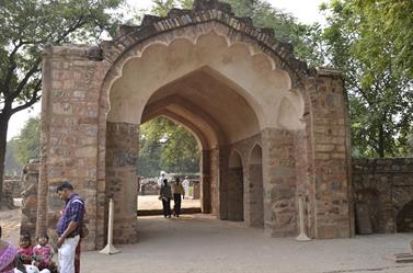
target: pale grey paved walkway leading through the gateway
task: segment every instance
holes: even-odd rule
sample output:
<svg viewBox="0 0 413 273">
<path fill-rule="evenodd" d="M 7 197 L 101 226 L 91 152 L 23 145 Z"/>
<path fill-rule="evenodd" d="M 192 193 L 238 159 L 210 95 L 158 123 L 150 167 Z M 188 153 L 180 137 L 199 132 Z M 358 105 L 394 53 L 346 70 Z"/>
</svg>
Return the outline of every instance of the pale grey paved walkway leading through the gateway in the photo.
<svg viewBox="0 0 413 273">
<path fill-rule="evenodd" d="M 206 215 L 141 217 L 139 242 L 122 246 L 121 254 L 82 254 L 82 272 L 142 273 L 413 273 L 395 264 L 394 253 L 408 252 L 413 234 L 297 242 L 266 237 L 242 223 Z"/>
</svg>

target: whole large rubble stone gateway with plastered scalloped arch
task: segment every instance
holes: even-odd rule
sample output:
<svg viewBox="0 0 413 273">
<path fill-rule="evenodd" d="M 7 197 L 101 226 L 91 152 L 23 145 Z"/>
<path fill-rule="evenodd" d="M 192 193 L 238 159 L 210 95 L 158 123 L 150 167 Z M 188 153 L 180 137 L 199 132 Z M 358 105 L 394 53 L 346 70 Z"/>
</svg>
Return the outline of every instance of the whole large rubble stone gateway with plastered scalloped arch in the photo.
<svg viewBox="0 0 413 273">
<path fill-rule="evenodd" d="M 55 228 L 69 180 L 85 198 L 85 249 L 105 243 L 108 197 L 115 241 L 137 241 L 138 127 L 162 115 L 202 146 L 203 213 L 295 236 L 305 196 L 310 237 L 352 236 L 343 81 L 291 48 L 216 0 L 147 15 L 99 47 L 47 46 L 37 232 Z"/>
</svg>

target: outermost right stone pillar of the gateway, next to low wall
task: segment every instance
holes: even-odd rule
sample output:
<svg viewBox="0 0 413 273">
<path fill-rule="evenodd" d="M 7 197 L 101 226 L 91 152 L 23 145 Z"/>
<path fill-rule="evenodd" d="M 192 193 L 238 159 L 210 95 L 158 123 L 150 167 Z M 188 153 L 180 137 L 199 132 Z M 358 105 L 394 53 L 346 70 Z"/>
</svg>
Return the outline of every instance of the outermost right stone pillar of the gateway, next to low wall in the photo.
<svg viewBox="0 0 413 273">
<path fill-rule="evenodd" d="M 352 235 L 349 127 L 341 75 L 321 70 L 312 102 L 317 238 Z M 351 208 L 352 207 L 352 208 Z"/>
</svg>

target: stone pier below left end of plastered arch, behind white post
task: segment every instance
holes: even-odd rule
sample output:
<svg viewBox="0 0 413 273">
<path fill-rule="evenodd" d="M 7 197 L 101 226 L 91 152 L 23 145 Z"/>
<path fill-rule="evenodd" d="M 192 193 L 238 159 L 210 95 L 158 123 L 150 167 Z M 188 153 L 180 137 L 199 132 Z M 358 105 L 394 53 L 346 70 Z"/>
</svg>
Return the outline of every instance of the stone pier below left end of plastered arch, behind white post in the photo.
<svg viewBox="0 0 413 273">
<path fill-rule="evenodd" d="M 138 126 L 107 123 L 106 189 L 115 204 L 114 242 L 137 241 L 137 157 Z"/>
</svg>

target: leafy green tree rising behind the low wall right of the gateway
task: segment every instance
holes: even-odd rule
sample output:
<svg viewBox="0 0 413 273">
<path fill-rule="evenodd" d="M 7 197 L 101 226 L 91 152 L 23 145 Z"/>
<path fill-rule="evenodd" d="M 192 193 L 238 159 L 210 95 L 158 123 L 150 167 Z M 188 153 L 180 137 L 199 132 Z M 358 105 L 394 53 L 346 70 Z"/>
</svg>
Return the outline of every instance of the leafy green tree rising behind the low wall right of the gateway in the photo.
<svg viewBox="0 0 413 273">
<path fill-rule="evenodd" d="M 317 39 L 326 52 L 325 65 L 343 72 L 353 155 L 403 156 L 413 122 L 413 54 L 403 49 L 412 48 L 412 2 L 333 0 L 322 10 L 330 12 L 329 25 Z M 389 20 L 405 24 L 401 31 L 410 32 L 408 39 L 399 37 Z"/>
</svg>

